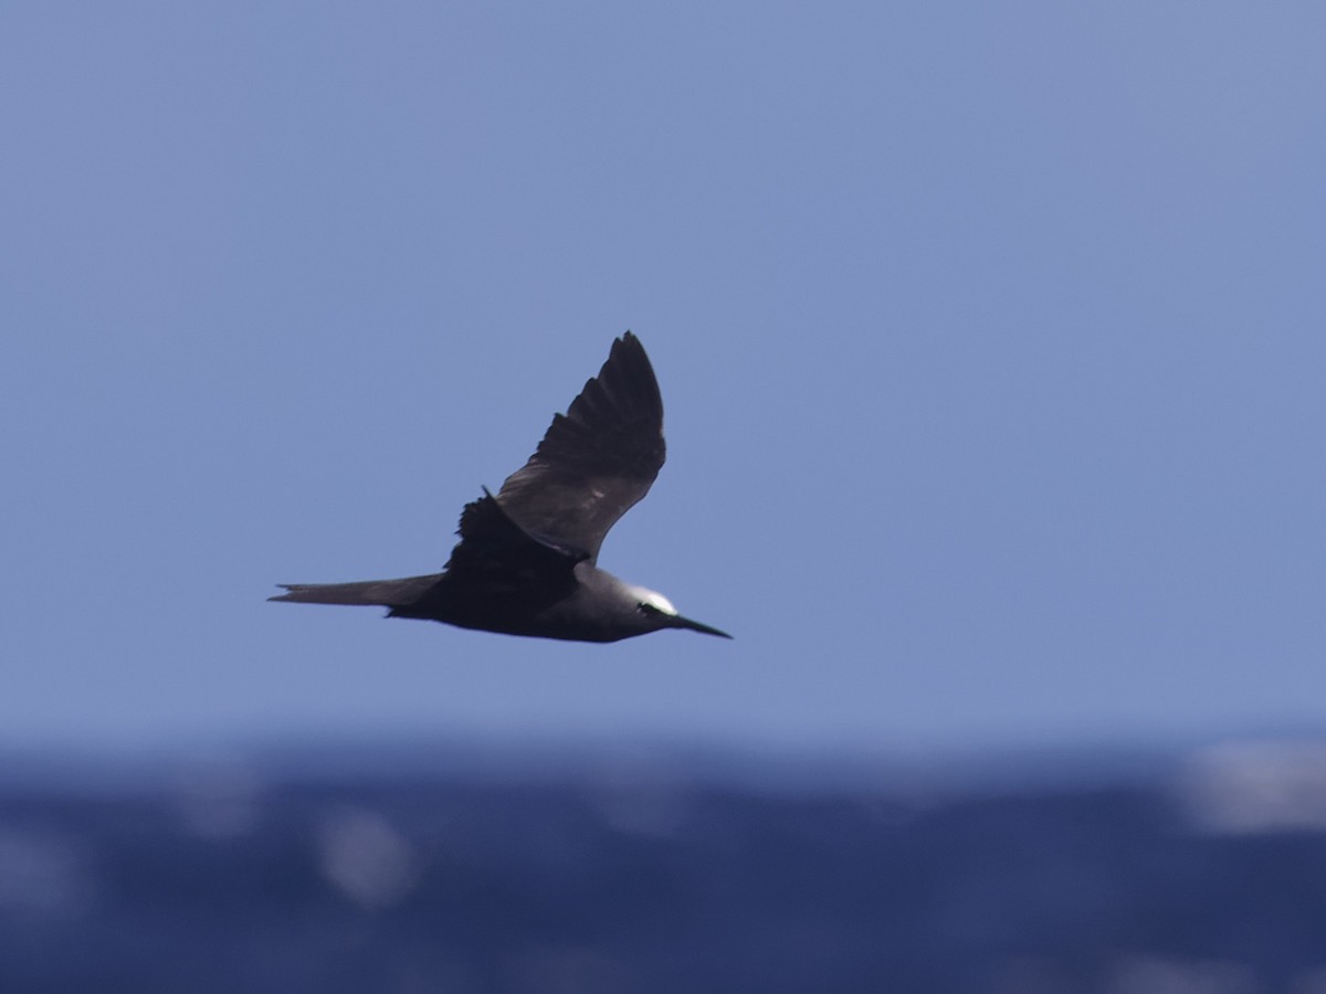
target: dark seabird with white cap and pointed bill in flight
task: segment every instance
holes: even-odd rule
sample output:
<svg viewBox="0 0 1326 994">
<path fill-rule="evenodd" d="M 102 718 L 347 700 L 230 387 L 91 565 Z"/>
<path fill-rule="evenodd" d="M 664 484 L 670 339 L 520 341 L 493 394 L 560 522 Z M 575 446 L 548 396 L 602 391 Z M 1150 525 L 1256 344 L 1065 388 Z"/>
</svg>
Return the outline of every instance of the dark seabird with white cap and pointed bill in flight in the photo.
<svg viewBox="0 0 1326 994">
<path fill-rule="evenodd" d="M 534 455 L 465 505 L 442 573 L 354 583 L 281 583 L 268 598 L 374 604 L 387 618 L 569 641 L 610 643 L 664 628 L 723 639 L 658 591 L 598 567 L 603 538 L 650 492 L 667 445 L 663 398 L 640 339 L 613 342 L 598 375 L 553 415 Z"/>
</svg>

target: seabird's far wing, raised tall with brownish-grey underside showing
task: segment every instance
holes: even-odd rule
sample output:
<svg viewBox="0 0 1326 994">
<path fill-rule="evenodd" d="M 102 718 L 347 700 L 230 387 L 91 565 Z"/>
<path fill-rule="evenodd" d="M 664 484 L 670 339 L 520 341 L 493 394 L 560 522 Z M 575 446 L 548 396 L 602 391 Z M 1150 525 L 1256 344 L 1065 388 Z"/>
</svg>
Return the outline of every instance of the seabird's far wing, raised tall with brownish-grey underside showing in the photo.
<svg viewBox="0 0 1326 994">
<path fill-rule="evenodd" d="M 603 535 L 663 467 L 663 399 L 640 341 L 627 331 L 538 449 L 497 492 L 529 534 L 593 562 Z"/>
</svg>

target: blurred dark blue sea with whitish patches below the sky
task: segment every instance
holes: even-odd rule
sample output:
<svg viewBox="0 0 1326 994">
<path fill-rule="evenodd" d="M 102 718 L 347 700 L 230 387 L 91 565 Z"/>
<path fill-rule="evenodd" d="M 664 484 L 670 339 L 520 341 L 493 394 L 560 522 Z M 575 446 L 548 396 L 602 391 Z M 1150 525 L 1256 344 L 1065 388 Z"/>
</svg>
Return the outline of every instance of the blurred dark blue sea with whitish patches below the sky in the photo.
<svg viewBox="0 0 1326 994">
<path fill-rule="evenodd" d="M 335 753 L 11 777 L 0 990 L 1326 991 L 1322 758 L 934 789 Z"/>
</svg>

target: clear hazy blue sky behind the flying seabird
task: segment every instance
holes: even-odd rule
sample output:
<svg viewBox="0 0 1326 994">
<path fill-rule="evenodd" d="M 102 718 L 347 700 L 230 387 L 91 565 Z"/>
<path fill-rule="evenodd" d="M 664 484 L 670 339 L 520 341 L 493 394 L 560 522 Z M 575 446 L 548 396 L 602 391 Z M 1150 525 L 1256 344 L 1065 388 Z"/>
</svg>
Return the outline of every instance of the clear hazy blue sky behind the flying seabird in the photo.
<svg viewBox="0 0 1326 994">
<path fill-rule="evenodd" d="M 1326 726 L 1317 3 L 0 8 L 0 742 Z M 602 565 L 431 573 L 633 329 Z"/>
</svg>

